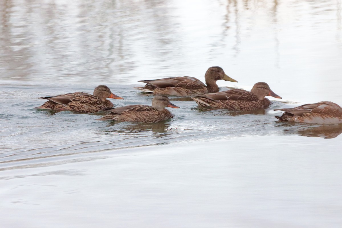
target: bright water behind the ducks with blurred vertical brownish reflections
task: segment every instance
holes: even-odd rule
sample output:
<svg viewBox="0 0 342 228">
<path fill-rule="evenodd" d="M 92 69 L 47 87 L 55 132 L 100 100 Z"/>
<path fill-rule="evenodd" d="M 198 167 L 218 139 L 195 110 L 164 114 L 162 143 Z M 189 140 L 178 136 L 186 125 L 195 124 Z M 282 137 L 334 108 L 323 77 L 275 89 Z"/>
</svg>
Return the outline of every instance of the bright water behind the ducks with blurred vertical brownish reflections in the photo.
<svg viewBox="0 0 342 228">
<path fill-rule="evenodd" d="M 244 88 L 266 81 L 290 100 L 341 101 L 331 92 L 341 70 L 340 1 L 19 3 L 0 3 L 6 80 L 203 80 L 219 65 Z"/>
</svg>

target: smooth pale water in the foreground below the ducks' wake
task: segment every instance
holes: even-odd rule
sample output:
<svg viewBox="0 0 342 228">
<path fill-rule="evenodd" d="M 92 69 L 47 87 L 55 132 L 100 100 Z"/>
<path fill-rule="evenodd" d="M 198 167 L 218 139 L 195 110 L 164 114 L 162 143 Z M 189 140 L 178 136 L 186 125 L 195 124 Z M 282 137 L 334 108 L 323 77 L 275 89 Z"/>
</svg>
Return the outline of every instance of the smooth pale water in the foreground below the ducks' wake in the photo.
<svg viewBox="0 0 342 228">
<path fill-rule="evenodd" d="M 2 215 L 21 218 L 2 216 L 2 225 L 337 228 L 342 157 L 323 142 L 244 137 L 2 171 Z"/>
</svg>

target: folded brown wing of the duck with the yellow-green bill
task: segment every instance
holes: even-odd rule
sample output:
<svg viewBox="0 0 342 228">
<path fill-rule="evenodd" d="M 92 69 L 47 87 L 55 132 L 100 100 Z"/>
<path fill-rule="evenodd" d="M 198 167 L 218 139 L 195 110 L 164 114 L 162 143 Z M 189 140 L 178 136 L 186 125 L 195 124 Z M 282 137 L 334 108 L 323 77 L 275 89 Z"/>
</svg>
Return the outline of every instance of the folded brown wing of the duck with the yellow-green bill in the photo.
<svg viewBox="0 0 342 228">
<path fill-rule="evenodd" d="M 162 78 L 156 80 L 143 80 L 139 82 L 144 82 L 148 85 L 152 85 L 157 88 L 167 88 L 167 87 L 178 87 L 186 89 L 198 89 L 205 87 L 205 84 L 194 77 L 172 77 L 172 78 Z"/>
</svg>

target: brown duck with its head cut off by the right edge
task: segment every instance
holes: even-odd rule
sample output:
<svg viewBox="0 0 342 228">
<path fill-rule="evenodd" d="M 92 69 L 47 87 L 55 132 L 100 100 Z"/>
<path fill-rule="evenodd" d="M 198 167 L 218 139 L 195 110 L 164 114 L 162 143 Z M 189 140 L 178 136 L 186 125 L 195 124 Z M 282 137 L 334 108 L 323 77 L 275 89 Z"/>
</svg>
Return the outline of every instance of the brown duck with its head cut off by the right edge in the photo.
<svg viewBox="0 0 342 228">
<path fill-rule="evenodd" d="M 330 101 L 321 101 L 294 108 L 280 108 L 275 110 L 284 111 L 281 116 L 275 116 L 275 118 L 281 121 L 317 124 L 342 123 L 341 106 Z"/>
</svg>

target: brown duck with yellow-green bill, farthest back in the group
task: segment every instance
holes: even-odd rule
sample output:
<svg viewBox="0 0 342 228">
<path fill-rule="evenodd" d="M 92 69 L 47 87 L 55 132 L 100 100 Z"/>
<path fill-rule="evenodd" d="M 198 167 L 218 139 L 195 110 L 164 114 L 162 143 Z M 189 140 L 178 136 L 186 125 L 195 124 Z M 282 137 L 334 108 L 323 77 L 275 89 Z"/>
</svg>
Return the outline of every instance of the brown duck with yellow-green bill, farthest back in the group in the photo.
<svg viewBox="0 0 342 228">
<path fill-rule="evenodd" d="M 225 80 L 237 82 L 235 79 L 228 77 L 221 67 L 210 67 L 205 74 L 206 84 L 194 77 L 172 77 L 156 80 L 142 80 L 144 87 L 135 87 L 144 92 L 174 96 L 196 96 L 206 93 L 219 92 L 217 80 Z"/>
</svg>

